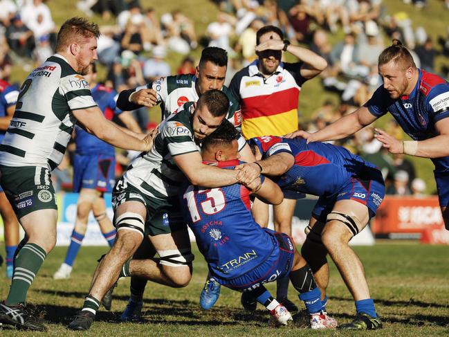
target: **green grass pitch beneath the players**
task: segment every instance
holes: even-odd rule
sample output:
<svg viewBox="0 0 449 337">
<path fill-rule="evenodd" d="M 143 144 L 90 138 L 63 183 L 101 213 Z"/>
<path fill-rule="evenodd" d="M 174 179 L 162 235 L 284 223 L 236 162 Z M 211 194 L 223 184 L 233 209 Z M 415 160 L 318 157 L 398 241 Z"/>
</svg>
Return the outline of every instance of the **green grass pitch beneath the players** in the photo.
<svg viewBox="0 0 449 337">
<path fill-rule="evenodd" d="M 0 248 L 3 251 L 3 248 Z M 95 259 L 105 250 L 85 247 L 80 251 L 70 280 L 53 280 L 52 275 L 64 258 L 66 248 L 56 248 L 39 272 L 28 293 L 28 302 L 35 304 L 47 322 L 50 336 L 80 336 L 66 330 L 70 318 L 82 306 L 89 288 Z M 370 247 L 356 247 L 376 301 L 376 309 L 384 322 L 384 329 L 367 332 L 311 331 L 300 313 L 295 322 L 279 329 L 267 326 L 268 312 L 261 306 L 255 313 L 244 311 L 240 295 L 222 289 L 217 305 L 211 311 L 201 311 L 198 300 L 206 265 L 197 251 L 194 253 L 194 276 L 183 289 L 171 289 L 149 284 L 145 293 L 145 324 L 118 322 L 118 315 L 126 305 L 129 280 L 119 283 L 115 291 L 113 311 L 100 311 L 98 321 L 82 336 L 447 336 L 449 334 L 449 285 L 447 246 L 421 246 L 414 243 L 381 243 Z M 275 293 L 274 284 L 268 289 Z M 4 270 L 0 275 L 0 298 L 8 293 Z M 331 265 L 328 311 L 339 322 L 347 322 L 354 315 L 354 301 L 343 284 L 336 268 Z M 290 298 L 300 307 L 295 290 Z M 40 333 L 18 332 L 4 328 L 1 336 L 39 336 Z"/>
</svg>

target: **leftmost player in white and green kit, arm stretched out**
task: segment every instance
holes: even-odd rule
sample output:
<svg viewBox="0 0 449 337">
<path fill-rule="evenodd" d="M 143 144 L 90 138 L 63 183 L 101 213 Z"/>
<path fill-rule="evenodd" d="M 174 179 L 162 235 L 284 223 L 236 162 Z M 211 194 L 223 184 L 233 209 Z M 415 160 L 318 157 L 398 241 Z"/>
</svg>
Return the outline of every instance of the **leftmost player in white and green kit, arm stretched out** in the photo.
<svg viewBox="0 0 449 337">
<path fill-rule="evenodd" d="M 111 145 L 147 151 L 152 135 L 135 134 L 106 118 L 82 77 L 97 59 L 98 26 L 68 19 L 57 35 L 57 54 L 33 70 L 21 86 L 14 116 L 0 145 L 0 183 L 26 237 L 15 257 L 0 323 L 45 331 L 26 309 L 26 293 L 56 243 L 57 206 L 50 172 L 64 156 L 73 125 Z"/>
</svg>

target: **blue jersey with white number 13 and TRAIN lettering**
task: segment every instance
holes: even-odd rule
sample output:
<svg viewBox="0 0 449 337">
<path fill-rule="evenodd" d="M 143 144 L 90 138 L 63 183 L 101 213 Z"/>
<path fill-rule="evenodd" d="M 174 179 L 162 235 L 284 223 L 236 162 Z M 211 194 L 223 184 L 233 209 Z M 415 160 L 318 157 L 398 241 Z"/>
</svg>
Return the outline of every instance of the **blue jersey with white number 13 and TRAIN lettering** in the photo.
<svg viewBox="0 0 449 337">
<path fill-rule="evenodd" d="M 233 169 L 239 161 L 219 162 Z M 261 176 L 261 179 L 264 179 Z M 239 183 L 223 188 L 189 185 L 181 201 L 185 221 L 212 275 L 230 280 L 262 264 L 277 248 L 274 235 L 254 221 L 250 210 L 250 191 Z"/>
</svg>

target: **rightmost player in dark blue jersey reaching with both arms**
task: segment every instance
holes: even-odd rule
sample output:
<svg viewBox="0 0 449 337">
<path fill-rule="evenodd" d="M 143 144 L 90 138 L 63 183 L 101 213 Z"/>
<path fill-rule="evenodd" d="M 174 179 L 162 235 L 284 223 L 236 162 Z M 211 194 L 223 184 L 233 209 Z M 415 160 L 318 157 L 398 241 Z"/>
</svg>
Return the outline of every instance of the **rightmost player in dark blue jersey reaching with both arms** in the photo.
<svg viewBox="0 0 449 337">
<path fill-rule="evenodd" d="M 397 39 L 379 55 L 378 72 L 383 85 L 363 107 L 315 133 L 296 131 L 291 136 L 308 142 L 345 138 L 390 111 L 412 140 L 397 140 L 380 129 L 375 137 L 392 154 L 432 159 L 439 205 L 449 230 L 449 83 L 417 69 Z"/>
</svg>

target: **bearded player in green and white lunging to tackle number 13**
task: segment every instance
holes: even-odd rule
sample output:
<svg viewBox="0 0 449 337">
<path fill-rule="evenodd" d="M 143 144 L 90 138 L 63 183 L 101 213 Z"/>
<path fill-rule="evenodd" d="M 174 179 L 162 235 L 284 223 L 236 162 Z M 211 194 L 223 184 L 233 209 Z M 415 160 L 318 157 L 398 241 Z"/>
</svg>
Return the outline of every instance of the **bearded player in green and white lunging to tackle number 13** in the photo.
<svg viewBox="0 0 449 337">
<path fill-rule="evenodd" d="M 219 127 L 228 109 L 229 100 L 222 91 L 203 93 L 198 102 L 187 102 L 165 119 L 158 127 L 154 147 L 131 161 L 113 192 L 116 242 L 98 265 L 82 311 L 69 329 L 91 327 L 100 300 L 119 276 L 143 277 L 173 287 L 190 282 L 194 256 L 178 201 L 183 181 L 187 178 L 194 185 L 210 188 L 236 181 L 248 188 L 260 184 L 258 177 L 237 179 L 238 171 L 202 163 L 199 144 Z M 159 258 L 129 260 L 145 236 Z"/>
</svg>

